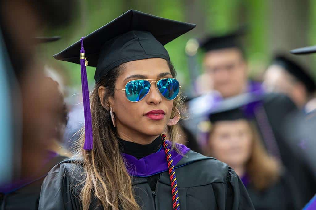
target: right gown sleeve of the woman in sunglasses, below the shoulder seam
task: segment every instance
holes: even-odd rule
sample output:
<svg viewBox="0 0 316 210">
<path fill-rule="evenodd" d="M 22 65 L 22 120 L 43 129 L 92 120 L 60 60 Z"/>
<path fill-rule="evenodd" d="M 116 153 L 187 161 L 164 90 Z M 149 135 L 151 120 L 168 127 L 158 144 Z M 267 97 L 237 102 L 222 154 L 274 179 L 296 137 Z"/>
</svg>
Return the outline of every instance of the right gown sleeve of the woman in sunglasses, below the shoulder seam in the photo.
<svg viewBox="0 0 316 210">
<path fill-rule="evenodd" d="M 219 210 L 254 210 L 244 184 L 231 167 L 228 167 L 226 183 L 212 185 Z"/>
</svg>

